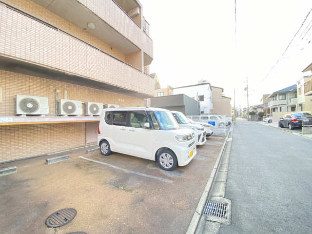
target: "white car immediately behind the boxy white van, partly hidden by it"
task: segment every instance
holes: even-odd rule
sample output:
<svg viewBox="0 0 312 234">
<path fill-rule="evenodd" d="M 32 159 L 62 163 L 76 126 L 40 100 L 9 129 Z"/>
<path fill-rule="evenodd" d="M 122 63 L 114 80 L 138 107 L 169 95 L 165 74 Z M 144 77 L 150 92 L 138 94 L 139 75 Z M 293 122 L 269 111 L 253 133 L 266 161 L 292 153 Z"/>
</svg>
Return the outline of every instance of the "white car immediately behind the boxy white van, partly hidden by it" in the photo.
<svg viewBox="0 0 312 234">
<path fill-rule="evenodd" d="M 171 111 L 173 116 L 176 118 L 177 123 L 182 128 L 193 129 L 195 133 L 196 145 L 203 145 L 206 142 L 206 131 L 200 124 L 191 123 L 191 121 L 179 111 Z"/>
</svg>

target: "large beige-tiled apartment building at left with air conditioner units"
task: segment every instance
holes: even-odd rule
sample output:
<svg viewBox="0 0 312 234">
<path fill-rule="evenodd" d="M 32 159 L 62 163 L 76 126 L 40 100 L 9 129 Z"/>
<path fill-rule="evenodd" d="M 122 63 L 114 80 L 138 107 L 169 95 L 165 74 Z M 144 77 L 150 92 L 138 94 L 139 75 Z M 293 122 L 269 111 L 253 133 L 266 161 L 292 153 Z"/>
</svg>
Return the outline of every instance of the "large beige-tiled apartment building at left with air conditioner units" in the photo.
<svg viewBox="0 0 312 234">
<path fill-rule="evenodd" d="M 154 96 L 152 60 L 137 0 L 1 0 L 0 163 L 94 144 L 103 105 Z"/>
</svg>

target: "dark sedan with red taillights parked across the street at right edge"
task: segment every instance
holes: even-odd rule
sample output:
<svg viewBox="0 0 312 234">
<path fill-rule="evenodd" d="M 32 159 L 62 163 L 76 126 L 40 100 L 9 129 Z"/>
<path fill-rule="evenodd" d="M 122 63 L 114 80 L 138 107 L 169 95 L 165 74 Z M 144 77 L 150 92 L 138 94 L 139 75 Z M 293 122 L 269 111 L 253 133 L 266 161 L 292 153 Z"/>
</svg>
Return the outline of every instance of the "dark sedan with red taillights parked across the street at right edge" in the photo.
<svg viewBox="0 0 312 234">
<path fill-rule="evenodd" d="M 290 130 L 300 128 L 302 127 L 302 121 L 309 121 L 307 117 L 312 117 L 312 115 L 307 112 L 286 114 L 279 119 L 278 126 L 281 128 L 288 127 Z"/>
</svg>

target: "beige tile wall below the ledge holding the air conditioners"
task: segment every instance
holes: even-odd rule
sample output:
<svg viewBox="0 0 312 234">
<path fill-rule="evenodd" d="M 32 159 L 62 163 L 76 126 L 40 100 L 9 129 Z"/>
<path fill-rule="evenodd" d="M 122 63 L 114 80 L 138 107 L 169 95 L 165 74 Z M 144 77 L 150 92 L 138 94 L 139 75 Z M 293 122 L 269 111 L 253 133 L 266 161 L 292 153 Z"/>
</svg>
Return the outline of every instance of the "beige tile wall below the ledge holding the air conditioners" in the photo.
<svg viewBox="0 0 312 234">
<path fill-rule="evenodd" d="M 0 126 L 0 162 L 83 145 L 85 123 Z"/>
</svg>

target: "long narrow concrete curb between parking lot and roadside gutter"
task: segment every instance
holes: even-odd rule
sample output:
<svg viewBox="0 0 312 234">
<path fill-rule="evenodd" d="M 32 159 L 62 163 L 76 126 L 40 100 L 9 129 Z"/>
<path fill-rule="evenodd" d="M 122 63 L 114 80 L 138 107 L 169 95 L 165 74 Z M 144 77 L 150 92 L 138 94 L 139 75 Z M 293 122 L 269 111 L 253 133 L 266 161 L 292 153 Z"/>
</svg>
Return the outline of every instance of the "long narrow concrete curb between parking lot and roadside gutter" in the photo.
<svg viewBox="0 0 312 234">
<path fill-rule="evenodd" d="M 233 127 L 234 128 L 234 127 Z M 231 130 L 231 129 L 230 129 Z M 215 176 L 216 176 L 216 172 L 217 172 L 217 169 L 219 167 L 219 164 L 221 162 L 221 158 L 222 158 L 222 155 L 223 155 L 223 152 L 224 152 L 224 149 L 225 149 L 225 146 L 228 142 L 228 138 L 229 138 L 229 135 L 230 135 L 230 131 L 228 132 L 228 135 L 227 137 L 225 138 L 225 141 L 222 145 L 222 148 L 220 150 L 220 153 L 218 155 L 218 158 L 216 159 L 215 161 L 215 166 L 214 166 L 214 169 L 213 171 L 211 172 L 210 176 L 209 176 L 209 179 L 207 181 L 207 184 L 206 184 L 206 187 L 204 189 L 204 192 L 203 194 L 201 195 L 200 199 L 199 199 L 199 202 L 197 204 L 197 207 L 196 207 L 196 210 L 195 210 L 195 213 L 193 215 L 193 218 L 191 220 L 191 223 L 189 225 L 189 228 L 187 229 L 187 232 L 186 234 L 195 234 L 195 231 L 196 231 L 196 228 L 197 228 L 197 225 L 198 225 L 198 222 L 199 222 L 199 219 L 201 217 L 201 213 L 205 207 L 205 204 L 206 204 L 206 201 L 207 201 L 207 198 L 208 198 L 208 195 L 209 195 L 209 192 L 211 190 L 211 187 L 213 185 L 213 182 L 214 182 L 214 179 L 215 179 Z M 233 130 L 232 130 L 233 131 Z"/>
</svg>

